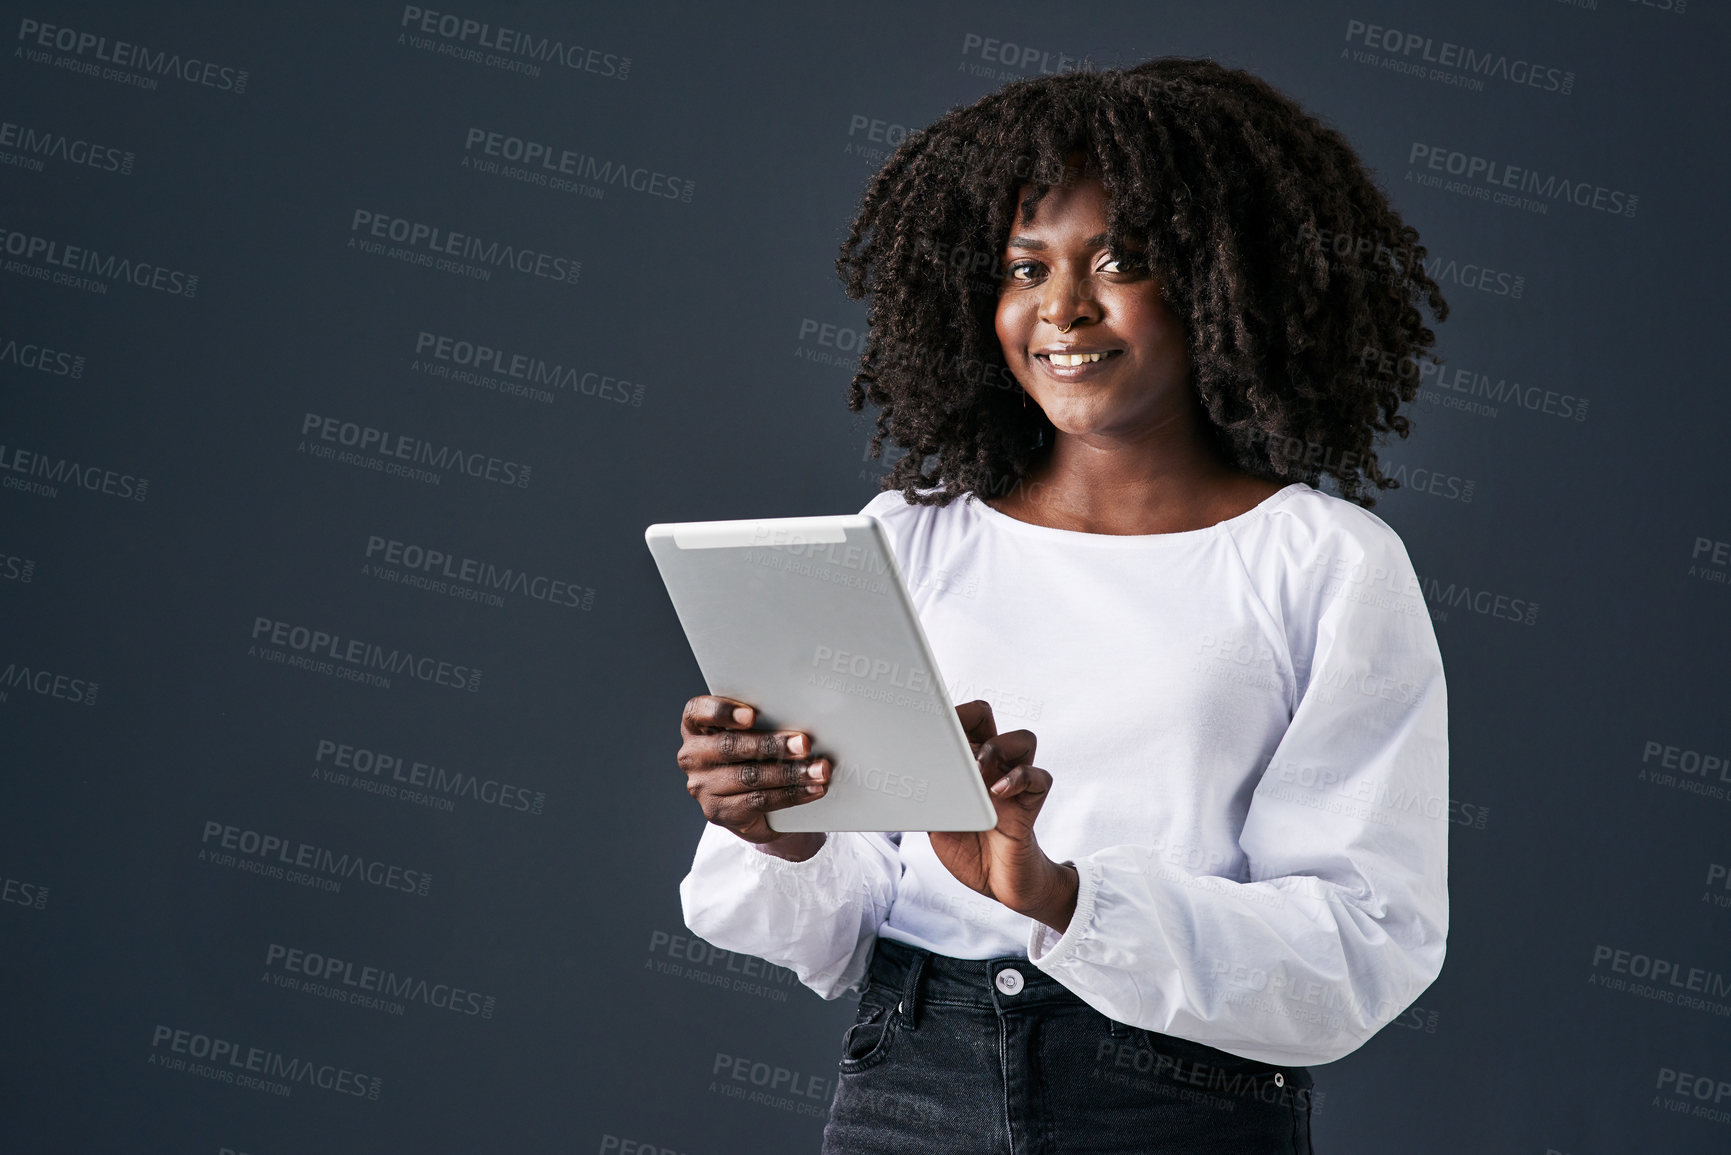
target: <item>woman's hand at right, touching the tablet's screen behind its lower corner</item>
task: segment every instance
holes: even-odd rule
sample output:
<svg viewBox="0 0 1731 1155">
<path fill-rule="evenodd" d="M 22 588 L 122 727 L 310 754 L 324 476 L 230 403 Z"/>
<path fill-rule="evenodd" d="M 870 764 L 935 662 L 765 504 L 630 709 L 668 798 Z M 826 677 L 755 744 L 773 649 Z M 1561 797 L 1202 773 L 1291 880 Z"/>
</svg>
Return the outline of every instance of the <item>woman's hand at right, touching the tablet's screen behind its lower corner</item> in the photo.
<svg viewBox="0 0 1731 1155">
<path fill-rule="evenodd" d="M 1033 819 L 1052 788 L 1052 776 L 1033 765 L 1033 731 L 999 734 L 983 700 L 956 707 L 956 715 L 980 760 L 997 826 L 931 831 L 931 850 L 964 887 L 1063 933 L 1077 907 L 1077 869 L 1052 862 L 1033 838 Z"/>
</svg>

